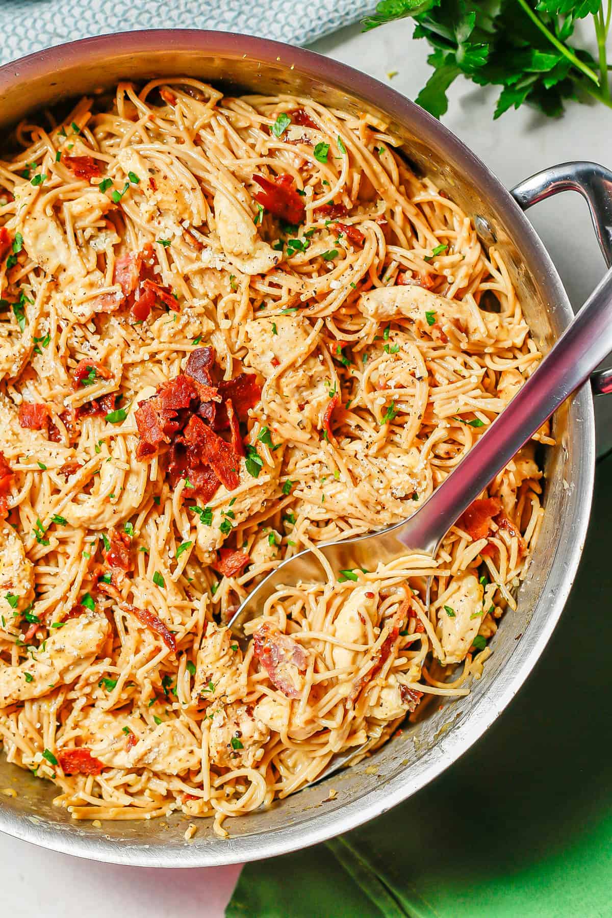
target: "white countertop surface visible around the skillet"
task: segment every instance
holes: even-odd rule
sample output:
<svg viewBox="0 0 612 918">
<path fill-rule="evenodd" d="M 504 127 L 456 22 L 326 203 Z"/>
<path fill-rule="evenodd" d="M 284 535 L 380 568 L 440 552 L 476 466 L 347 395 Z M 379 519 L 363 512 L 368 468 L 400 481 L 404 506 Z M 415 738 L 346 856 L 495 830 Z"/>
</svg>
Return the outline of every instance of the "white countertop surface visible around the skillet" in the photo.
<svg viewBox="0 0 612 918">
<path fill-rule="evenodd" d="M 410 97 L 425 83 L 428 46 L 411 39 L 407 22 L 362 34 L 346 28 L 313 46 Z M 551 120 L 529 108 L 511 111 L 495 123 L 495 90 L 458 83 L 443 118 L 508 187 L 557 162 L 594 160 L 612 166 L 612 112 L 603 106 L 570 105 Z M 574 306 L 604 273 L 604 261 L 586 206 L 564 194 L 529 211 L 529 218 L 559 268 Z M 597 403 L 600 451 L 612 447 L 612 397 Z M 11 918 L 217 918 L 233 889 L 239 867 L 156 870 L 96 864 L 43 851 L 0 835 L 0 901 Z"/>
</svg>

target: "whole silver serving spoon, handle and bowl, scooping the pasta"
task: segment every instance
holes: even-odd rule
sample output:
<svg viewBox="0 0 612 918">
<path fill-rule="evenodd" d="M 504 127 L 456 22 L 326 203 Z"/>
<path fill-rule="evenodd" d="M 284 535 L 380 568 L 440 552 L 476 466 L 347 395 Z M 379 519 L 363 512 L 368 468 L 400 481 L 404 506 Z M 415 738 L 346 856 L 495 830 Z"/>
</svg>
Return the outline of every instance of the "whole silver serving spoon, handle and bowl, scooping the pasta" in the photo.
<svg viewBox="0 0 612 918">
<path fill-rule="evenodd" d="M 540 430 L 544 421 L 584 383 L 610 351 L 612 269 L 595 287 L 572 324 L 507 408 L 416 513 L 406 521 L 379 532 L 345 542 L 317 545 L 334 575 L 338 576 L 340 571 L 353 567 L 373 571 L 379 562 L 386 564 L 409 551 L 435 554 L 464 510 L 506 467 L 521 446 Z M 244 622 L 261 613 L 265 600 L 277 587 L 317 581 L 323 576 L 322 565 L 310 549 L 287 558 L 243 600 L 229 621 L 229 627 L 243 636 Z M 353 749 L 336 756 L 317 781 L 327 778 L 358 752 L 359 749 Z"/>
</svg>

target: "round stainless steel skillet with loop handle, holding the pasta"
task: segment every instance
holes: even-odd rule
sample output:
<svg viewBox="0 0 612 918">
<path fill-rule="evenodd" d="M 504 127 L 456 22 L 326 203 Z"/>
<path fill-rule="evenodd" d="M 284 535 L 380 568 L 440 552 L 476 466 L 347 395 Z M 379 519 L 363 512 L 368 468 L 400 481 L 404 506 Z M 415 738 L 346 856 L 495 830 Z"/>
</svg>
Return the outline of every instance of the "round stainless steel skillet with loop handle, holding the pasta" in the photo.
<svg viewBox="0 0 612 918">
<path fill-rule="evenodd" d="M 7 129 L 39 106 L 94 92 L 118 80 L 176 75 L 209 80 L 236 93 L 291 92 L 328 106 L 368 110 L 400 138 L 420 174 L 440 185 L 474 220 L 486 245 L 509 266 L 526 318 L 542 351 L 550 350 L 572 319 L 551 259 L 522 208 L 565 188 L 589 201 L 606 254 L 612 239 L 612 175 L 593 163 L 547 170 L 515 189 L 515 196 L 451 132 L 388 86 L 305 50 L 262 39 L 197 30 L 142 31 L 73 42 L 0 68 L 0 124 Z M 517 203 L 518 202 L 518 203 Z M 568 253 L 572 238 L 568 233 Z M 599 376 L 597 391 L 609 388 Z M 550 638 L 571 588 L 588 524 L 595 467 L 591 394 L 583 387 L 554 418 L 558 446 L 546 465 L 546 514 L 517 614 L 493 639 L 486 677 L 465 699 L 435 711 L 386 744 L 365 766 L 281 800 L 269 811 L 233 820 L 232 838 L 219 839 L 202 823 L 191 844 L 185 820 L 74 823 L 52 805 L 55 789 L 0 756 L 0 829 L 78 856 L 158 867 L 213 866 L 281 854 L 345 832 L 384 812 L 440 774 L 484 733 L 528 677 Z M 519 751 L 517 752 L 519 754 Z M 375 770 L 373 770 L 375 769 Z M 417 831 L 417 828 L 416 828 Z"/>
</svg>

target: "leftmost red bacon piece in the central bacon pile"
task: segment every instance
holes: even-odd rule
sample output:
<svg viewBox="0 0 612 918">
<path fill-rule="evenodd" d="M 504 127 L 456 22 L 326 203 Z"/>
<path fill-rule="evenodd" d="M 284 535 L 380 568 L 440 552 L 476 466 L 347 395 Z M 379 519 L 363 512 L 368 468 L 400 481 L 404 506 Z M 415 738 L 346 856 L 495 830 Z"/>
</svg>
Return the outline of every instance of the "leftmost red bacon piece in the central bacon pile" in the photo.
<svg viewBox="0 0 612 918">
<path fill-rule="evenodd" d="M 188 409 L 197 398 L 194 383 L 183 373 L 160 386 L 156 394 L 139 403 L 134 412 L 140 442 L 137 459 L 148 459 L 161 443 L 169 443 L 181 429 L 184 420 L 179 412 Z"/>
</svg>

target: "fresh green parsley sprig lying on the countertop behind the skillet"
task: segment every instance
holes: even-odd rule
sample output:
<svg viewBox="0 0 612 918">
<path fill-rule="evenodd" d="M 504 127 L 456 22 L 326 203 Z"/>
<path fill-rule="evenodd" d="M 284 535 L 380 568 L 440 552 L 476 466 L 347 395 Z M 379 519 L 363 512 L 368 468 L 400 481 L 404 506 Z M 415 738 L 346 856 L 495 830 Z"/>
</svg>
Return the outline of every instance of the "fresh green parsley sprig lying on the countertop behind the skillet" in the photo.
<svg viewBox="0 0 612 918">
<path fill-rule="evenodd" d="M 523 104 L 557 117 L 565 102 L 584 94 L 612 108 L 606 59 L 612 0 L 380 0 L 363 28 L 404 17 L 415 19 L 413 37 L 433 49 L 434 72 L 417 103 L 437 118 L 460 75 L 502 87 L 494 118 Z M 597 60 L 575 43 L 576 23 L 587 17 Z"/>
</svg>

